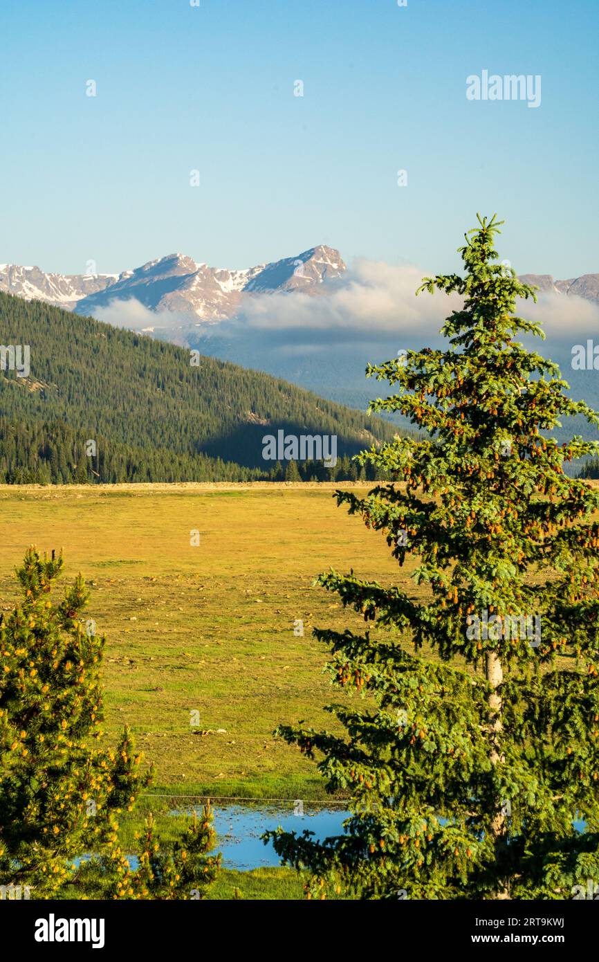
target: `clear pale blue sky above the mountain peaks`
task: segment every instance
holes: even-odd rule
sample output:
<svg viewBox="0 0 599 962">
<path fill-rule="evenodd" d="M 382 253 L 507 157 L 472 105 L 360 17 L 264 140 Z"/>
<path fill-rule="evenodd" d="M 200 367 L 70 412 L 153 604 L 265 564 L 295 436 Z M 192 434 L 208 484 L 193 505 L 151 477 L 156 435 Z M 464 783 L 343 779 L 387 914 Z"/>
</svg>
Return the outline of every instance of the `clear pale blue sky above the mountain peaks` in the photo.
<svg viewBox="0 0 599 962">
<path fill-rule="evenodd" d="M 0 261 L 114 272 L 181 251 L 245 267 L 328 243 L 440 271 L 496 210 L 519 272 L 597 271 L 598 13 L 5 0 Z M 468 101 L 483 69 L 539 74 L 540 107 Z"/>
</svg>

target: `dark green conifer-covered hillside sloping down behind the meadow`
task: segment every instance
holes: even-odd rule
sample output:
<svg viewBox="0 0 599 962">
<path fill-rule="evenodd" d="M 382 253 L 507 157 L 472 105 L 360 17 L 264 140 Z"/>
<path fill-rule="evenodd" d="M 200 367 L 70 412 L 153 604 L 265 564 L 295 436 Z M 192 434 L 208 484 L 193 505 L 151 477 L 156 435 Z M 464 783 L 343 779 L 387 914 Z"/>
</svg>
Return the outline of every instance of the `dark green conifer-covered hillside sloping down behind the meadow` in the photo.
<svg viewBox="0 0 599 962">
<path fill-rule="evenodd" d="M 31 368 L 0 370 L 0 481 L 280 477 L 285 465 L 262 460 L 262 437 L 279 429 L 337 435 L 337 470 L 298 467 L 340 477 L 349 455 L 396 430 L 258 371 L 192 365 L 185 348 L 1 292 L 0 343 L 29 345 Z"/>
</svg>

